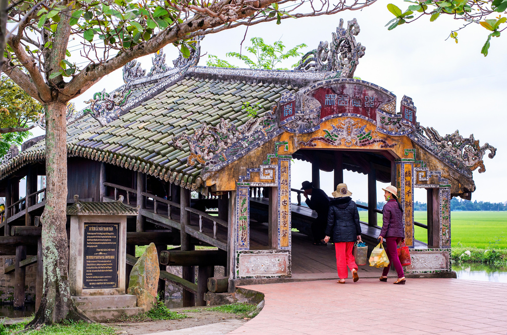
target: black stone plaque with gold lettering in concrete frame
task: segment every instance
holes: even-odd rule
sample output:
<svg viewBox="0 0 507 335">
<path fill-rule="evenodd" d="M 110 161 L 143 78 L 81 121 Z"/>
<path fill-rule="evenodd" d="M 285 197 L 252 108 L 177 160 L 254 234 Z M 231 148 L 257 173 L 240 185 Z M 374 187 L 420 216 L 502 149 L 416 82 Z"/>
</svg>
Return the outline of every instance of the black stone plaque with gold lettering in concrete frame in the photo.
<svg viewBox="0 0 507 335">
<path fill-rule="evenodd" d="M 119 227 L 119 223 L 85 222 L 83 288 L 118 287 Z"/>
</svg>

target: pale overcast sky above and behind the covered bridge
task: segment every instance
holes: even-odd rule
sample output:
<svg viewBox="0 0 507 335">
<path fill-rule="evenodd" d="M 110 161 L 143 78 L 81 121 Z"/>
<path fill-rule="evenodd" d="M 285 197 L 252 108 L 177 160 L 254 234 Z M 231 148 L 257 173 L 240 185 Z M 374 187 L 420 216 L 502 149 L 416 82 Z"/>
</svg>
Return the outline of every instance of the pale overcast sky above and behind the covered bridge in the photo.
<svg viewBox="0 0 507 335">
<path fill-rule="evenodd" d="M 507 146 L 503 142 L 502 122 L 506 120 L 504 95 L 507 65 L 504 57 L 507 54 L 507 37 L 493 37 L 489 55 L 484 57 L 480 51 L 487 30 L 481 26 L 468 27 L 458 33 L 458 44 L 454 40 L 446 41 L 451 29 L 461 25 L 450 17 L 441 17 L 432 23 L 428 17 L 421 18 L 388 31 L 384 25 L 393 18 L 387 11 L 388 3 L 378 2 L 363 11 L 342 12 L 334 16 L 287 19 L 280 25 L 266 23 L 252 26 L 248 28 L 243 46 L 248 45 L 251 37 L 259 36 L 267 43 L 281 39 L 288 48 L 305 43 L 308 47 L 303 51 L 307 52 L 315 49 L 321 40 L 331 41 L 331 33 L 336 31 L 340 18 L 344 19 L 344 26 L 348 20 L 356 18 L 361 28 L 356 40 L 366 47 L 366 54 L 359 60 L 355 76 L 393 92 L 397 97 L 397 110 L 403 95 L 411 97 L 417 107 L 417 121 L 421 125 L 431 126 L 441 135 L 452 134 L 456 129 L 466 137 L 473 133 L 481 145 L 488 142 L 496 147 L 495 158 L 484 158 L 487 171 L 483 174 L 477 170 L 474 172 L 477 190 L 472 198 L 478 201 L 506 201 L 507 177 L 502 166 L 507 160 Z M 401 1 L 393 3 L 402 9 L 409 5 Z M 239 27 L 208 35 L 201 42 L 201 54 L 208 53 L 225 59 L 227 52 L 240 52 L 244 34 L 245 27 Z M 177 57 L 176 48 L 170 45 L 164 52 L 167 54 L 167 65 L 172 66 L 171 61 Z M 204 56 L 199 65 L 206 65 L 206 60 L 207 56 Z M 227 60 L 244 67 L 238 60 Z M 148 72 L 152 65 L 151 56 L 140 61 Z M 296 62 L 296 59 L 291 59 L 280 67 L 291 67 Z M 81 109 L 85 106 L 83 101 L 90 99 L 93 93 L 104 88 L 111 92 L 112 88 L 122 83 L 122 71 L 119 69 L 104 77 L 74 102 Z M 34 135 L 39 134 L 34 132 Z M 300 188 L 301 182 L 311 175 L 309 164 L 297 161 L 292 169 L 292 186 Z M 354 199 L 367 200 L 365 175 L 345 172 L 344 179 Z M 331 194 L 332 173 L 321 173 L 321 185 L 328 185 L 323 189 Z M 425 191 L 416 190 L 415 200 L 425 202 Z"/>
</svg>

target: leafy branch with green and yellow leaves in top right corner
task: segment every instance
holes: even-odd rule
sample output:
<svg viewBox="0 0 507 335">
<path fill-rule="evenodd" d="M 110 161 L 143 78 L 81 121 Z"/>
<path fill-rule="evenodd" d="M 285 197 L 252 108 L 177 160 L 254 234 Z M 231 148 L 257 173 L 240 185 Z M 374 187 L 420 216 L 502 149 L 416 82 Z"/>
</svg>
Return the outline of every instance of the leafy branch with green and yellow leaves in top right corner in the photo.
<svg viewBox="0 0 507 335">
<path fill-rule="evenodd" d="M 505 12 L 507 0 L 405 0 L 405 2 L 413 4 L 405 11 L 402 11 L 393 4 L 387 5 L 389 12 L 395 16 L 394 19 L 386 24 L 386 26 L 389 26 L 388 30 L 417 20 L 423 15 L 429 15 L 430 22 L 437 20 L 442 14 L 452 15 L 455 19 L 464 20 L 464 26 L 470 23 L 479 23 L 490 31 L 486 43 L 481 49 L 481 53 L 485 57 L 488 55 L 491 37 L 500 37 L 500 32 L 505 29 L 504 27 L 500 27 L 500 25 L 507 21 L 507 18 L 501 17 L 501 15 L 491 18 L 492 15 Z M 408 21 L 410 19 L 413 20 Z M 456 43 L 458 43 L 457 30 L 452 31 L 449 35 Z"/>
</svg>

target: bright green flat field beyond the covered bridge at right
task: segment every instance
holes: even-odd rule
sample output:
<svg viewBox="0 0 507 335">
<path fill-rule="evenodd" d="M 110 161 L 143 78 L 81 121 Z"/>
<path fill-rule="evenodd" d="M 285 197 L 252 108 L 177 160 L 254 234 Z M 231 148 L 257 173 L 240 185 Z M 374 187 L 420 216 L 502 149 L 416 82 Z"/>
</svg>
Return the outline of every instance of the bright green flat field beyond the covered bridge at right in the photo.
<svg viewBox="0 0 507 335">
<path fill-rule="evenodd" d="M 361 221 L 368 221 L 366 211 L 359 212 L 359 217 Z M 382 226 L 382 215 L 378 214 L 377 218 Z M 426 224 L 426 212 L 415 211 L 414 220 Z M 416 226 L 415 238 L 426 243 L 426 229 Z M 507 212 L 451 212 L 451 246 L 507 248 Z"/>
</svg>

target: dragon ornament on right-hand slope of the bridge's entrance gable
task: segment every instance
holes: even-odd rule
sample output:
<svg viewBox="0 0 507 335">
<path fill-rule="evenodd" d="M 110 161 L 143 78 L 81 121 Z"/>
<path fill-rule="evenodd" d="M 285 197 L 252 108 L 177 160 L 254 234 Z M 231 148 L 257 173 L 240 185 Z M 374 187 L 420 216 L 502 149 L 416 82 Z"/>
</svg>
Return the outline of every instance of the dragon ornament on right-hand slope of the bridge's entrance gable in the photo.
<svg viewBox="0 0 507 335">
<path fill-rule="evenodd" d="M 470 171 L 479 168 L 479 173 L 486 171 L 483 157 L 486 150 L 489 150 L 489 158 L 493 158 L 496 154 L 496 148 L 488 143 L 481 146 L 479 140 L 474 138 L 474 134 L 468 138 L 459 135 L 459 131 L 455 131 L 451 135 L 442 137 L 434 128 L 421 127 L 431 142 L 437 144 L 445 152 L 449 153 L 454 159 L 463 163 Z"/>
</svg>

